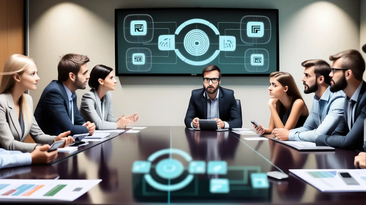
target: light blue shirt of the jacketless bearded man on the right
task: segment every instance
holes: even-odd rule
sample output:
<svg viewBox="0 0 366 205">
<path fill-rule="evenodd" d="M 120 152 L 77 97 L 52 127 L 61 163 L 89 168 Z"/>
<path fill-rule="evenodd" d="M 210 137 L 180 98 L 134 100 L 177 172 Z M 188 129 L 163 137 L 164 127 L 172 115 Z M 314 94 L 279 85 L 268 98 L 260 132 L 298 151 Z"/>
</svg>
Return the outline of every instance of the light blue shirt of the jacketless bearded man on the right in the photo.
<svg viewBox="0 0 366 205">
<path fill-rule="evenodd" d="M 330 92 L 330 86 L 321 98 L 314 95 L 311 111 L 302 127 L 290 130 L 288 140 L 315 142 L 319 135 L 332 135 L 333 131 L 342 133 L 346 128 L 344 101 L 346 94 L 341 90 Z"/>
</svg>

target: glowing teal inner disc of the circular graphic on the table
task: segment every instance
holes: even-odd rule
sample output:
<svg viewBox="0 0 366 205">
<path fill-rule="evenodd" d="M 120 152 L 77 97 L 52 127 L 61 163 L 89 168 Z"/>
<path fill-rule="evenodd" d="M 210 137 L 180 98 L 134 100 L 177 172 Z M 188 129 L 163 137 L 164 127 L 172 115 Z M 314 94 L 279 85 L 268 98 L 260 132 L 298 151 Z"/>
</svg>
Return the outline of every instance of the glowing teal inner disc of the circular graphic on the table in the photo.
<svg viewBox="0 0 366 205">
<path fill-rule="evenodd" d="M 157 163 L 156 174 L 164 179 L 175 179 L 184 171 L 183 164 L 176 159 L 164 159 Z"/>
</svg>

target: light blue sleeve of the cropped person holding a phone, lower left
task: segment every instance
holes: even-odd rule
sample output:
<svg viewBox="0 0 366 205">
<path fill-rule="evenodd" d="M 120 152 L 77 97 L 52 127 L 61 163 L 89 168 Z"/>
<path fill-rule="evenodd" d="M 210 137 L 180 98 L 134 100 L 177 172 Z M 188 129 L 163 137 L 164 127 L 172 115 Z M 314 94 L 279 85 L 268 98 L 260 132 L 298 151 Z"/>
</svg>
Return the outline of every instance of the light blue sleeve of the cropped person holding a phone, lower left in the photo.
<svg viewBox="0 0 366 205">
<path fill-rule="evenodd" d="M 32 157 L 28 152 L 22 153 L 20 151 L 9 151 L 0 148 L 0 169 L 30 165 L 31 163 Z"/>
</svg>

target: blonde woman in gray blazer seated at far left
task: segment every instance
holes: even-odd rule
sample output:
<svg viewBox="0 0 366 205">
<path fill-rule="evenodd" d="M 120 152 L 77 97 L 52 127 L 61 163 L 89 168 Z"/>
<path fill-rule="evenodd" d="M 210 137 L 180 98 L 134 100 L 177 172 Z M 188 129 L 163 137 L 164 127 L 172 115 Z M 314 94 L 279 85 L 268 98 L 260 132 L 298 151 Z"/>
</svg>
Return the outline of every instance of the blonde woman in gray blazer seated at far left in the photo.
<svg viewBox="0 0 366 205">
<path fill-rule="evenodd" d="M 43 133 L 33 117 L 32 97 L 26 90 L 36 90 L 38 80 L 37 67 L 30 57 L 11 55 L 0 73 L 0 148 L 32 152 L 34 149 L 55 141 L 64 140 L 61 147 L 73 143 L 70 131 L 56 136 Z M 36 143 L 24 142 L 28 134 Z"/>
</svg>

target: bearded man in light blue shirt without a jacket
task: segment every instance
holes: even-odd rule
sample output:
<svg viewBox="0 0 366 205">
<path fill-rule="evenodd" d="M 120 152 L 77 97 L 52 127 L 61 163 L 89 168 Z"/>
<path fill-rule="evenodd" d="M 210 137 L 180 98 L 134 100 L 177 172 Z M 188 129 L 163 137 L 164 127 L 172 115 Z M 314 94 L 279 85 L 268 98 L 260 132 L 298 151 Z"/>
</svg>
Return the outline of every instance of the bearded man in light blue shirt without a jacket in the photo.
<svg viewBox="0 0 366 205">
<path fill-rule="evenodd" d="M 304 125 L 287 130 L 276 128 L 273 134 L 280 140 L 315 142 L 319 135 L 342 134 L 346 122 L 343 118 L 345 96 L 343 91 L 330 92 L 330 65 L 324 60 L 306 60 L 301 63 L 305 67 L 302 81 L 304 93 L 314 93 L 310 115 Z"/>
</svg>

